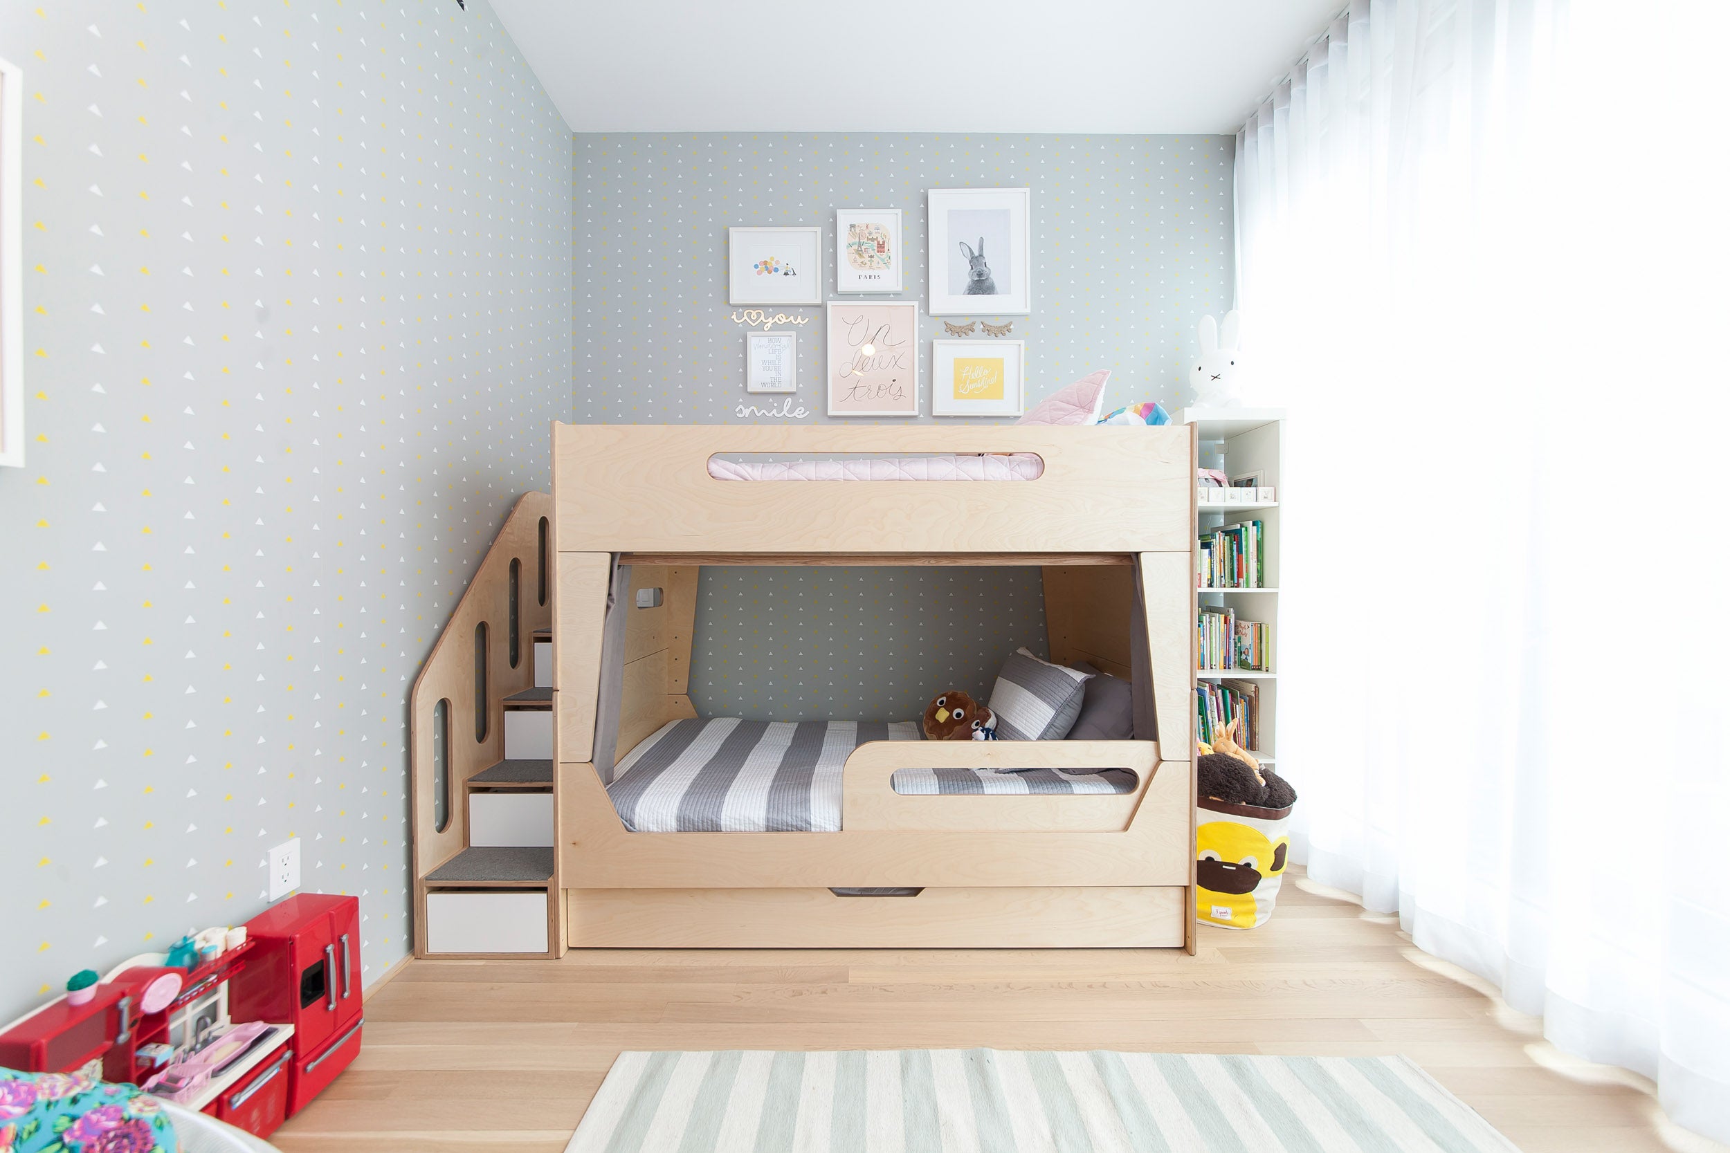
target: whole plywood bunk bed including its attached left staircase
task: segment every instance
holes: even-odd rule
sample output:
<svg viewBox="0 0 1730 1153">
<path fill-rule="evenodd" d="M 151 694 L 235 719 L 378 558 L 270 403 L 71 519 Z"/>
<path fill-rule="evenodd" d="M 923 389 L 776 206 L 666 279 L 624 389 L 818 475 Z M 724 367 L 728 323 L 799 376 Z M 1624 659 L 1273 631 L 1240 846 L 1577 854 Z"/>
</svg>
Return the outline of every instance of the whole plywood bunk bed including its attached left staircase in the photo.
<svg viewBox="0 0 1730 1153">
<path fill-rule="evenodd" d="M 716 479 L 723 453 L 1031 453 L 1043 465 L 1036 477 L 1026 460 L 972 470 L 1014 481 L 782 482 Z M 1194 951 L 1194 494 L 1189 425 L 554 425 L 554 494 L 517 501 L 412 691 L 415 954 Z M 825 747 L 827 769 L 799 766 L 813 781 L 829 773 L 825 804 L 839 811 L 822 828 L 839 831 L 633 831 L 609 783 L 644 780 L 631 757 L 697 723 L 687 690 L 702 565 L 1036 565 L 1050 659 L 1130 679 L 1137 740 L 863 740 L 855 728 Z M 972 780 L 967 769 L 990 768 L 1133 785 L 894 788 L 900 769 Z"/>
</svg>

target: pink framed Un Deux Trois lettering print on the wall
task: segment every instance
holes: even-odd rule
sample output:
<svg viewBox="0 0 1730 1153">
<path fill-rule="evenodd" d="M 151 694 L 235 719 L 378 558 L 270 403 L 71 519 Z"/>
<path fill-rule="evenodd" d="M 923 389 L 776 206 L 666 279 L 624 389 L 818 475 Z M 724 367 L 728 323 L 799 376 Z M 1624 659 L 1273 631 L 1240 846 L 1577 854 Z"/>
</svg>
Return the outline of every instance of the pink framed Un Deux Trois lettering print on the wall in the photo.
<svg viewBox="0 0 1730 1153">
<path fill-rule="evenodd" d="M 829 301 L 830 417 L 919 415 L 919 301 Z"/>
</svg>

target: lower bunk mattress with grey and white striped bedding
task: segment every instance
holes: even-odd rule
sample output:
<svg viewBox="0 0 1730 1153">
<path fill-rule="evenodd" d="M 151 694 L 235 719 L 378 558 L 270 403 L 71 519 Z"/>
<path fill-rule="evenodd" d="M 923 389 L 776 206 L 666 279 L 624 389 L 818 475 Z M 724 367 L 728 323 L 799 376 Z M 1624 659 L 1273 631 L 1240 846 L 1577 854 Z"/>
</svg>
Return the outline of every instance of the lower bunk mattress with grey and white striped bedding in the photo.
<svg viewBox="0 0 1730 1153">
<path fill-rule="evenodd" d="M 633 833 L 836 833 L 841 769 L 872 740 L 920 740 L 917 721 L 671 721 L 630 750 L 607 795 Z M 1124 769 L 898 769 L 898 793 L 1126 793 Z"/>
</svg>

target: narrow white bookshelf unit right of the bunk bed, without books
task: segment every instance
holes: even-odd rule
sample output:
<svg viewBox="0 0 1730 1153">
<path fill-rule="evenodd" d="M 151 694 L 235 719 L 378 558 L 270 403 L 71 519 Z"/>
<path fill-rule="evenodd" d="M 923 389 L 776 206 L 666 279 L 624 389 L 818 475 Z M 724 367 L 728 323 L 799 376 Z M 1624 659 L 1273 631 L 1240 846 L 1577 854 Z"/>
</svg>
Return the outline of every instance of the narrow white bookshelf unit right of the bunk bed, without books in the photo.
<svg viewBox="0 0 1730 1153">
<path fill-rule="evenodd" d="M 1284 408 L 1185 408 L 1178 424 L 1195 425 L 1201 467 L 1218 468 L 1227 477 L 1261 474 L 1259 486 L 1272 487 L 1277 500 L 1242 505 L 1195 505 L 1197 531 L 1242 520 L 1259 520 L 1263 527 L 1263 588 L 1201 588 L 1195 596 L 1202 605 L 1230 605 L 1242 621 L 1259 621 L 1273 633 L 1273 671 L 1249 669 L 1197 669 L 1202 681 L 1256 681 L 1261 702 L 1261 747 L 1253 748 L 1265 762 L 1277 759 L 1278 745 L 1278 667 L 1282 648 L 1280 619 L 1280 505 L 1285 489 L 1280 482 L 1280 449 L 1285 437 Z"/>
</svg>

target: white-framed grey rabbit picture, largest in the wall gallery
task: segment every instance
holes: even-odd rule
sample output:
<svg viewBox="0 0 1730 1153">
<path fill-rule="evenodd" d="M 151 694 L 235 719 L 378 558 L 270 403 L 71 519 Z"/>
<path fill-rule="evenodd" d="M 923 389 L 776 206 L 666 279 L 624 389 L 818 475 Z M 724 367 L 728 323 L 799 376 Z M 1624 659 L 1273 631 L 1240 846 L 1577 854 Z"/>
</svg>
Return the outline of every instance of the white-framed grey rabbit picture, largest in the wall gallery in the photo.
<svg viewBox="0 0 1730 1153">
<path fill-rule="evenodd" d="M 1026 316 L 1033 311 L 1029 188 L 927 188 L 926 237 L 927 311 L 932 316 Z"/>
</svg>

